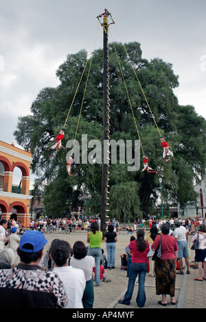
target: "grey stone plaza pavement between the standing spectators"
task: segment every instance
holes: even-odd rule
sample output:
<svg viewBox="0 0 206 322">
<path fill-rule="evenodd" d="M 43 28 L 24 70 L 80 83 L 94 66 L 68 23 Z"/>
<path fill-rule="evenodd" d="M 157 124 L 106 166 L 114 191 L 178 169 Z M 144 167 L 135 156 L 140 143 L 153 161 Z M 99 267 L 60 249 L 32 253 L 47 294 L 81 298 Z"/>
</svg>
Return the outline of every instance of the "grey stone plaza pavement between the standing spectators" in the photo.
<svg viewBox="0 0 206 322">
<path fill-rule="evenodd" d="M 136 236 L 136 234 L 133 234 Z M 95 301 L 93 308 L 107 308 L 107 309 L 124 309 L 133 310 L 138 308 L 136 304 L 136 297 L 138 291 L 138 284 L 135 284 L 133 298 L 130 301 L 130 306 L 119 304 L 118 300 L 124 297 L 128 286 L 128 277 L 126 277 L 126 271 L 121 270 L 121 258 L 119 257 L 125 252 L 125 248 L 130 241 L 130 234 L 122 233 L 118 235 L 117 248 L 115 252 L 115 269 L 106 270 L 105 276 L 111 280 L 111 283 L 101 282 L 100 286 L 95 286 L 94 293 Z M 45 245 L 45 250 L 49 249 L 51 242 L 54 238 L 60 238 L 67 240 L 71 247 L 76 240 L 82 240 L 87 244 L 87 232 L 76 232 L 71 234 L 56 233 L 56 234 L 45 234 L 48 243 Z M 189 242 L 190 243 L 190 242 Z M 106 243 L 102 242 L 102 248 L 104 249 L 104 255 L 106 253 Z M 191 250 L 190 261 L 194 259 L 194 251 Z M 184 263 L 184 260 L 183 260 Z M 176 287 L 175 287 L 175 298 L 176 306 L 170 304 L 170 297 L 167 295 L 168 306 L 164 307 L 158 304 L 161 300 L 161 296 L 156 295 L 155 291 L 155 277 L 149 277 L 146 274 L 146 304 L 144 308 L 206 308 L 206 280 L 202 282 L 194 281 L 194 278 L 198 277 L 198 269 L 190 268 L 190 275 L 186 272 L 184 275 L 176 275 Z M 137 283 L 137 282 L 136 282 Z"/>
</svg>

